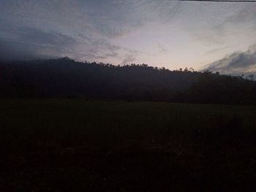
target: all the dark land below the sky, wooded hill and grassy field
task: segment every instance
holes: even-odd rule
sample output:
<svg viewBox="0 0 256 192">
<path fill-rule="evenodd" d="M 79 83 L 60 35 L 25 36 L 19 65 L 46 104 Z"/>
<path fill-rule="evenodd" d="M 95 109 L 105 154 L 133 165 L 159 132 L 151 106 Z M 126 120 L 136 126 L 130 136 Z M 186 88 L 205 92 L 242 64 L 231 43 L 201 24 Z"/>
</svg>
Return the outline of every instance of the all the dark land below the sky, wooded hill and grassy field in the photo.
<svg viewBox="0 0 256 192">
<path fill-rule="evenodd" d="M 0 191 L 256 191 L 248 78 L 69 58 L 1 63 Z"/>
</svg>

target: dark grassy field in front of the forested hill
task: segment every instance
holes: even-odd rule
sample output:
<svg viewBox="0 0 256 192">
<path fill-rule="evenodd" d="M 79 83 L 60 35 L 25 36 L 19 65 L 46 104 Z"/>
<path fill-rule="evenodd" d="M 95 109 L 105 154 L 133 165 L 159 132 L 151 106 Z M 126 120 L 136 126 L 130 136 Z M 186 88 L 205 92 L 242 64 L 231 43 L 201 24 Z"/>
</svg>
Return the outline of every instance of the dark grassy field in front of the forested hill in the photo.
<svg viewBox="0 0 256 192">
<path fill-rule="evenodd" d="M 0 191 L 256 191 L 256 107 L 0 101 Z"/>
</svg>

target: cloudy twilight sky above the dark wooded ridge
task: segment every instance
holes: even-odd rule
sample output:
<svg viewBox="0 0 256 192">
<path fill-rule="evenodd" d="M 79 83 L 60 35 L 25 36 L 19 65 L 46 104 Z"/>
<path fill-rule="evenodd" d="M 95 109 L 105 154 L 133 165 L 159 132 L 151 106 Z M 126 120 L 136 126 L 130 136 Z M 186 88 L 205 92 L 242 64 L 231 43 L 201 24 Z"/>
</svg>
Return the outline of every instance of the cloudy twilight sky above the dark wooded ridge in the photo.
<svg viewBox="0 0 256 192">
<path fill-rule="evenodd" d="M 0 59 L 256 71 L 256 3 L 0 0 Z"/>
</svg>

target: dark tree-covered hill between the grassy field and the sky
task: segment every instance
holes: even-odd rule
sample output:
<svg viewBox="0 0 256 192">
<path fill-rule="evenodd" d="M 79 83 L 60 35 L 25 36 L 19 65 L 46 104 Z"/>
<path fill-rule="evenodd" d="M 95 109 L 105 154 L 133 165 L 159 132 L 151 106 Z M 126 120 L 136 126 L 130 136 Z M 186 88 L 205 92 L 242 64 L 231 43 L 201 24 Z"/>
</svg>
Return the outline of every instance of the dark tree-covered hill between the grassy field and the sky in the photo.
<svg viewBox="0 0 256 192">
<path fill-rule="evenodd" d="M 69 58 L 0 64 L 0 96 L 256 104 L 256 82 L 193 69 L 76 62 Z"/>
</svg>

